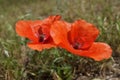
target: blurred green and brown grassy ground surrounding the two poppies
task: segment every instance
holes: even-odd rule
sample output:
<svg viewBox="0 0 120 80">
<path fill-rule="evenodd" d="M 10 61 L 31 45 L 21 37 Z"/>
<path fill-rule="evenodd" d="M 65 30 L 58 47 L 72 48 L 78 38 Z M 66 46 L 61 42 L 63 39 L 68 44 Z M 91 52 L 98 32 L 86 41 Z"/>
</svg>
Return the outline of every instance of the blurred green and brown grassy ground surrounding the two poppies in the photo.
<svg viewBox="0 0 120 80">
<path fill-rule="evenodd" d="M 33 51 L 15 32 L 18 20 L 56 14 L 68 22 L 84 19 L 95 24 L 100 30 L 96 41 L 112 47 L 111 59 L 96 62 L 58 48 Z M 118 80 L 119 76 L 120 0 L 0 0 L 0 80 Z"/>
</svg>

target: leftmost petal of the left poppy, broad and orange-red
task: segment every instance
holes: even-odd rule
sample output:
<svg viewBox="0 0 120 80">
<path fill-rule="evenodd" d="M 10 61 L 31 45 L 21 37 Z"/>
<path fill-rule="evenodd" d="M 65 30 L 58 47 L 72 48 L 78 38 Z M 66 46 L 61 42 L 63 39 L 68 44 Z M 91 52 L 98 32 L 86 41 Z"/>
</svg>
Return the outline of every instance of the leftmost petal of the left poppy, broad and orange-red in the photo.
<svg viewBox="0 0 120 80">
<path fill-rule="evenodd" d="M 34 34 L 32 27 L 30 24 L 32 24 L 32 21 L 18 21 L 16 23 L 16 32 L 18 35 L 29 38 L 30 40 L 37 42 L 38 37 Z"/>
</svg>

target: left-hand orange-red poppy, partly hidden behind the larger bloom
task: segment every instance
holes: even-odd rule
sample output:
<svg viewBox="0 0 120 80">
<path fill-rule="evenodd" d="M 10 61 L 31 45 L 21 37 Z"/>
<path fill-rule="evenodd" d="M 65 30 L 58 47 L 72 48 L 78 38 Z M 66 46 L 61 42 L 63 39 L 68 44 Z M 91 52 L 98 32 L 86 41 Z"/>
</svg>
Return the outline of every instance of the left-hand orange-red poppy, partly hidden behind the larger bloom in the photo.
<svg viewBox="0 0 120 80">
<path fill-rule="evenodd" d="M 43 50 L 55 47 L 55 44 L 50 36 L 51 25 L 60 20 L 60 16 L 49 16 L 44 20 L 21 20 L 16 23 L 16 32 L 22 37 L 26 37 L 31 40 L 28 43 L 28 47 L 34 50 Z"/>
</svg>

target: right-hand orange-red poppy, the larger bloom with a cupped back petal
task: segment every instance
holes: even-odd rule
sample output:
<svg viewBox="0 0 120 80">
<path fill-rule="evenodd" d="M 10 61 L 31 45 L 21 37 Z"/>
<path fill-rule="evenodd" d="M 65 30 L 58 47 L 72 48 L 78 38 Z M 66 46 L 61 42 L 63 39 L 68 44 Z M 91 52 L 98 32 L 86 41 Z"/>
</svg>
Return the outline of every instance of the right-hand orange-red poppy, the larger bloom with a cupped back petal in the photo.
<svg viewBox="0 0 120 80">
<path fill-rule="evenodd" d="M 110 58 L 112 50 L 109 45 L 94 42 L 98 29 L 84 20 L 75 21 L 68 30 L 64 21 L 56 21 L 51 27 L 51 36 L 54 42 L 73 54 L 93 58 L 96 61 Z M 67 27 L 67 28 L 66 28 Z"/>
</svg>

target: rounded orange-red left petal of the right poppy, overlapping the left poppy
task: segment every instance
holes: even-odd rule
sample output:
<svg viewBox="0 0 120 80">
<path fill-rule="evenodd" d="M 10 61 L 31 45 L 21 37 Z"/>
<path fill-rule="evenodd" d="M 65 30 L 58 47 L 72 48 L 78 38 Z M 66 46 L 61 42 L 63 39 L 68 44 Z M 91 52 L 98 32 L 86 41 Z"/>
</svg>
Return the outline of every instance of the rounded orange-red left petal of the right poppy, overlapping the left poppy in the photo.
<svg viewBox="0 0 120 80">
<path fill-rule="evenodd" d="M 64 21 L 56 21 L 53 23 L 50 34 L 56 44 L 60 44 L 62 42 L 67 42 L 65 44 L 69 44 L 67 40 L 67 24 Z"/>
</svg>

